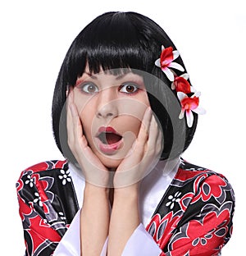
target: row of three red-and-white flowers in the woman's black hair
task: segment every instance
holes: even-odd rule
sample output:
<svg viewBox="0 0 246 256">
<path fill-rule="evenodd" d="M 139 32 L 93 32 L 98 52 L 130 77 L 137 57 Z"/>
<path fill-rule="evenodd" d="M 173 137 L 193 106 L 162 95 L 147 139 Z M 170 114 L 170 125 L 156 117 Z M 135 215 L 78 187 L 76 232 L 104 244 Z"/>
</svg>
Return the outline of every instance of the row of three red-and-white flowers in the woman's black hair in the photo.
<svg viewBox="0 0 246 256">
<path fill-rule="evenodd" d="M 186 117 L 187 126 L 192 127 L 194 122 L 193 112 L 202 115 L 205 114 L 206 111 L 203 107 L 198 106 L 201 93 L 196 91 L 194 87 L 189 84 L 189 74 L 175 75 L 175 72 L 170 69 L 175 68 L 179 71 L 185 71 L 183 66 L 173 62 L 179 55 L 180 53 L 176 50 L 173 51 L 173 48 L 164 48 L 162 45 L 161 57 L 156 60 L 155 65 L 162 69 L 168 80 L 172 82 L 171 89 L 175 90 L 177 93 L 181 105 L 179 118 L 182 119 Z"/>
</svg>

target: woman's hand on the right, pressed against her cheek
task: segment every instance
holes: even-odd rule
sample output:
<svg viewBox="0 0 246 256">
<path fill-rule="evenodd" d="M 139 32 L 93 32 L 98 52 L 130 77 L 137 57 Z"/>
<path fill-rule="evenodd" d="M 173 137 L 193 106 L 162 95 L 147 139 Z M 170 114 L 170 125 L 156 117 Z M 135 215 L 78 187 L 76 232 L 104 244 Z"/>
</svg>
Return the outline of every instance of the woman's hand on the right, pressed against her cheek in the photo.
<svg viewBox="0 0 246 256">
<path fill-rule="evenodd" d="M 114 188 L 138 185 L 156 166 L 162 153 L 162 131 L 148 107 L 144 113 L 139 135 L 130 152 L 116 169 Z"/>
</svg>

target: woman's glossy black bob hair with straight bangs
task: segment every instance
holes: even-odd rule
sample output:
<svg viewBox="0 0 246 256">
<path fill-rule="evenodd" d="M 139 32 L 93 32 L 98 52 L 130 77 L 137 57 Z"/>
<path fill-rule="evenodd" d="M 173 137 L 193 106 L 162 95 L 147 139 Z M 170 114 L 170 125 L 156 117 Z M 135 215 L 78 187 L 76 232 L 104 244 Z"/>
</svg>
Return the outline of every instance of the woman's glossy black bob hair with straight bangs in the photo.
<svg viewBox="0 0 246 256">
<path fill-rule="evenodd" d="M 144 84 L 149 103 L 162 126 L 164 145 L 161 159 L 176 158 L 188 148 L 194 137 L 198 115 L 194 113 L 194 123 L 190 128 L 186 125 L 185 118 L 179 119 L 180 103 L 176 93 L 171 91 L 171 82 L 166 75 L 154 64 L 160 57 L 162 45 L 176 49 L 157 23 L 135 12 L 104 13 L 77 35 L 62 63 L 52 100 L 53 133 L 57 147 L 64 157 L 75 162 L 67 144 L 64 107 L 66 88 L 68 85 L 75 85 L 87 63 L 91 73 L 98 73 L 102 69 L 107 71 L 130 68 L 155 77 L 156 80 L 149 82 L 148 75 L 144 75 Z M 175 62 L 185 68 L 181 57 Z M 176 74 L 179 75 L 179 71 Z M 170 91 L 173 98 L 169 97 Z"/>
</svg>

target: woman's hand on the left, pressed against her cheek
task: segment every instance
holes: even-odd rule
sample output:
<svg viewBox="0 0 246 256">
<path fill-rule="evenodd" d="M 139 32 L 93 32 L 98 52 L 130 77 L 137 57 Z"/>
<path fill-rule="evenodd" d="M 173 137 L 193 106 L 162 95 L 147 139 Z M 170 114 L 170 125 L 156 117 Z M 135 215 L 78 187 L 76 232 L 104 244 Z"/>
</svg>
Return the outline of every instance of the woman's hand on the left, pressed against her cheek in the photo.
<svg viewBox="0 0 246 256">
<path fill-rule="evenodd" d="M 67 142 L 71 152 L 79 163 L 86 182 L 97 186 L 108 187 L 110 171 L 108 171 L 93 153 L 84 136 L 80 115 L 74 103 L 74 91 L 72 87 L 67 94 Z"/>
</svg>

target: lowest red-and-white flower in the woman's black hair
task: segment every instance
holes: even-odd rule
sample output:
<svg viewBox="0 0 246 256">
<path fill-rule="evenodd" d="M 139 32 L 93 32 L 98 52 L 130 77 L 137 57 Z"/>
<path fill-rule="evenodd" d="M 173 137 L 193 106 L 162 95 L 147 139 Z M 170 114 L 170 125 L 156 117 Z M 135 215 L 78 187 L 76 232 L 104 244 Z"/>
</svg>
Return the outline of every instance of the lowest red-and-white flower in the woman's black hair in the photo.
<svg viewBox="0 0 246 256">
<path fill-rule="evenodd" d="M 188 127 L 192 127 L 193 125 L 194 116 L 192 112 L 195 112 L 200 115 L 203 115 L 206 112 L 203 109 L 203 107 L 198 106 L 200 95 L 200 92 L 195 92 L 191 97 L 189 97 L 187 94 L 183 92 L 177 92 L 177 96 L 180 99 L 181 104 L 181 112 L 179 118 L 182 119 L 185 115 Z"/>
</svg>

